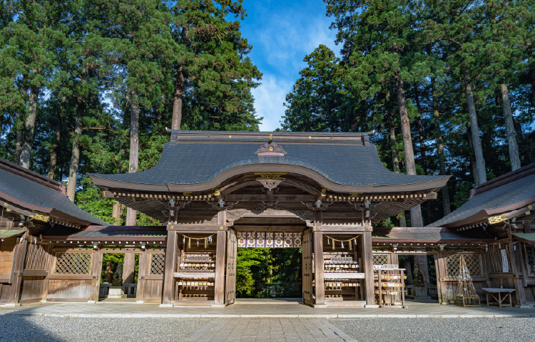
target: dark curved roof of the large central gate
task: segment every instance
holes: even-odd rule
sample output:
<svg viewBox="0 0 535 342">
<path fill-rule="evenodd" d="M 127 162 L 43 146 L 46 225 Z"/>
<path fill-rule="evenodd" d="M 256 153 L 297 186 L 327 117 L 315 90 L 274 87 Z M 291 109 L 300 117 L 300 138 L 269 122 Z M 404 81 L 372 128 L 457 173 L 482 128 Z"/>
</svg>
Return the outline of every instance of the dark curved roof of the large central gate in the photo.
<svg viewBox="0 0 535 342">
<path fill-rule="evenodd" d="M 210 134 L 210 132 L 200 133 Z M 193 135 L 191 132 L 190 134 Z M 225 134 L 233 136 L 235 133 Z M 362 133 L 355 133 L 357 134 Z M 245 138 L 223 142 L 180 140 L 179 136 L 178 140 L 164 145 L 161 159 L 150 170 L 113 175 L 91 174 L 91 177 L 93 180 L 98 177 L 150 185 L 165 185 L 165 183 L 186 185 L 208 182 L 234 167 L 258 164 L 305 167 L 340 185 L 409 185 L 449 177 L 394 173 L 382 165 L 377 155 L 377 147 L 373 144 L 367 143 L 365 146 L 355 142 L 330 143 L 325 138 L 324 140 L 320 138 L 310 142 L 303 140 L 285 142 L 285 136 L 282 135 L 276 142 L 284 148 L 287 155 L 259 157 L 255 155 L 255 151 L 263 144 L 250 142 Z"/>
</svg>

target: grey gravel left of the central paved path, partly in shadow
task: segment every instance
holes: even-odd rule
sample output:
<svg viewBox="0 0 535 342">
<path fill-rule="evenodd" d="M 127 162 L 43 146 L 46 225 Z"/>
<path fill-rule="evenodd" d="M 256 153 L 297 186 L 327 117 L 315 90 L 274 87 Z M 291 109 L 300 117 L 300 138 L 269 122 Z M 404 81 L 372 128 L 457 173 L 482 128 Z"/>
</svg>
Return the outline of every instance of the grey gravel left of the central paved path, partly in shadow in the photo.
<svg viewBox="0 0 535 342">
<path fill-rule="evenodd" d="M 0 314 L 0 341 L 184 341 L 211 321 Z"/>
</svg>

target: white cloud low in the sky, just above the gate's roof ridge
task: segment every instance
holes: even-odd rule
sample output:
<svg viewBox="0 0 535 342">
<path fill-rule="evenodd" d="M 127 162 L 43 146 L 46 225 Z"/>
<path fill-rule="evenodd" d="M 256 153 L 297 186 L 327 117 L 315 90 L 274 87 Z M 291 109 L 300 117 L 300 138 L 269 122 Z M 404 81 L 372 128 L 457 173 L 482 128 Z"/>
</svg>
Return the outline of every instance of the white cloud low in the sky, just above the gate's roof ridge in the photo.
<svg viewBox="0 0 535 342">
<path fill-rule="evenodd" d="M 290 80 L 264 74 L 262 85 L 252 90 L 256 113 L 264 117 L 260 124 L 261 131 L 271 132 L 280 128 L 280 121 L 285 110 L 282 103 L 285 102 L 286 95 L 290 93 L 292 86 L 293 83 Z"/>
</svg>

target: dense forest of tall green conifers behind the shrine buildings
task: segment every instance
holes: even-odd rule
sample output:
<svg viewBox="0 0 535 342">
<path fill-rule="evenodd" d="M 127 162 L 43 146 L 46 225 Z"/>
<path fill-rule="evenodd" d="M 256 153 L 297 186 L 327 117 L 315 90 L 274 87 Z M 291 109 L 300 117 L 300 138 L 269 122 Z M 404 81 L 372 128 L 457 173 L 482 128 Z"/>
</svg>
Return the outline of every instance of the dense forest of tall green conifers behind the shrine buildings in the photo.
<svg viewBox="0 0 535 342">
<path fill-rule="evenodd" d="M 305 56 L 279 130 L 374 130 L 389 170 L 453 176 L 437 201 L 382 224 L 430 224 L 535 161 L 535 0 L 325 4 L 340 51 Z M 161 224 L 84 175 L 148 170 L 165 127 L 258 130 L 245 16 L 242 0 L 3 0 L 0 157 L 65 182 L 106 222 Z M 243 274 L 280 258 L 250 253 Z M 266 282 L 271 271 L 258 272 Z M 240 281 L 255 296 L 252 280 Z"/>
</svg>

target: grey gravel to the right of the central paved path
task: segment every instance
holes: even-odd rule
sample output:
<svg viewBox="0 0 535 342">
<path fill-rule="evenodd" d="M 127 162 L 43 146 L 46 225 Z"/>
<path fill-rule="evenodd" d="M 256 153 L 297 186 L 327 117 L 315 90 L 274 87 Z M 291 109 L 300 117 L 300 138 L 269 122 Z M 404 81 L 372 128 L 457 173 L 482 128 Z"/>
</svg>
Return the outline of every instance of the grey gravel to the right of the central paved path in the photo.
<svg viewBox="0 0 535 342">
<path fill-rule="evenodd" d="M 330 319 L 357 341 L 535 341 L 535 318 Z"/>
</svg>

